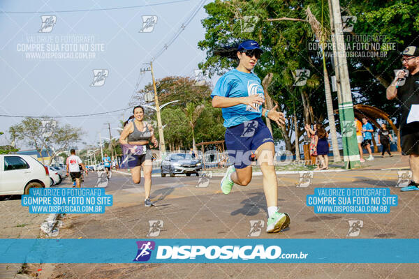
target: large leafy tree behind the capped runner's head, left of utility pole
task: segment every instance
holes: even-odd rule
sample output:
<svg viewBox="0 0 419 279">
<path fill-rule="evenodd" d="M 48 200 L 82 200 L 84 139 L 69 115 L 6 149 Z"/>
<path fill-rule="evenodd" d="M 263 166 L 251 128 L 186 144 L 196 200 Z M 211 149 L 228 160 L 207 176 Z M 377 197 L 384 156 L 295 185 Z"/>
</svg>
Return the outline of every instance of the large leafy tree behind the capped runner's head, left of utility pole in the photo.
<svg viewBox="0 0 419 279">
<path fill-rule="evenodd" d="M 226 46 L 238 45 L 242 40 L 257 40 L 264 53 L 260 56 L 254 73 L 263 80 L 268 73 L 273 74 L 267 92 L 286 114 L 286 126 L 273 126 L 273 134 L 284 138 L 288 150 L 295 149 L 291 142 L 293 133 L 293 101 L 298 122 L 312 123 L 325 119 L 324 89 L 321 87 L 322 61 L 311 57 L 307 44 L 313 40 L 311 27 L 306 22 L 306 10 L 310 6 L 318 13 L 318 1 L 214 1 L 205 6 L 208 17 L 202 21 L 206 29 L 205 40 L 198 47 L 207 52 L 200 68 L 208 75 L 226 73 L 237 66 L 237 60 L 216 54 Z M 242 32 L 245 16 L 257 17 L 252 32 Z M 311 70 L 305 86 L 293 86 L 295 70 Z M 320 70 L 319 70 L 320 69 Z M 298 98 L 295 99 L 297 96 Z M 303 131 L 300 125 L 297 134 Z"/>
</svg>

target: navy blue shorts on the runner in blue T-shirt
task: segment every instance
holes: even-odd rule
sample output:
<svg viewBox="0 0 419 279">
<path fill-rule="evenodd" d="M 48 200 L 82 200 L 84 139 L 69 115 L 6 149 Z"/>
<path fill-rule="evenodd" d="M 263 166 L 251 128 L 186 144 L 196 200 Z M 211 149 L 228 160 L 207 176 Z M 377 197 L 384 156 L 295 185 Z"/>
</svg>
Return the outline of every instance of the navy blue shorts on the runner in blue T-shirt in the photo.
<svg viewBox="0 0 419 279">
<path fill-rule="evenodd" d="M 261 118 L 227 128 L 225 138 L 228 157 L 236 169 L 251 165 L 251 154 L 265 142 L 274 142 Z"/>
</svg>

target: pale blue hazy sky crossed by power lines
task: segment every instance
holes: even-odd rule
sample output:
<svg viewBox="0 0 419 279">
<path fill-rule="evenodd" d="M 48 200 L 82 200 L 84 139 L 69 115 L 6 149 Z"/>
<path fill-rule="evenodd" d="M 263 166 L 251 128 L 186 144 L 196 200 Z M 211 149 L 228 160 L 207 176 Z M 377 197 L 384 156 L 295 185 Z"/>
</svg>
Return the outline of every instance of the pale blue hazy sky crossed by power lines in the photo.
<svg viewBox="0 0 419 279">
<path fill-rule="evenodd" d="M 207 0 L 205 4 L 209 2 Z M 156 5 L 158 3 L 166 4 Z M 128 107 L 140 69 L 147 67 L 145 63 L 168 43 L 198 3 L 198 0 L 2 1 L 0 114 L 67 116 Z M 148 4 L 154 6 L 88 11 Z M 87 11 L 59 12 L 62 10 Z M 5 13 L 12 11 L 38 13 Z M 152 15 L 157 17 L 153 31 L 141 33 L 142 16 Z M 47 32 L 48 27 L 38 32 L 42 27 L 41 16 L 54 16 L 50 32 Z M 197 47 L 198 41 L 205 36 L 200 23 L 205 17 L 205 10 L 200 8 L 175 42 L 154 61 L 156 79 L 170 75 L 194 77 L 198 63 L 205 59 L 205 53 Z M 80 50 L 83 47 L 80 43 L 74 46 L 68 38 L 81 38 L 82 43 L 87 44 L 87 51 Z M 38 50 L 31 51 L 31 47 L 38 47 Z M 54 47 L 58 49 L 54 50 Z M 74 50 L 75 47 L 78 50 Z M 97 49 L 91 51 L 91 47 Z M 45 58 L 46 55 L 64 54 L 87 55 L 87 58 Z M 94 69 L 108 70 L 102 86 L 90 86 Z M 138 88 L 142 89 L 149 82 L 151 74 L 148 72 L 140 76 Z M 98 142 L 98 133 L 102 133 L 102 137 L 109 136 L 104 123 L 118 127 L 119 120 L 129 115 L 131 111 L 126 110 L 101 116 L 61 118 L 59 122 L 83 128 L 87 132 L 84 141 L 93 144 Z M 21 120 L 1 117 L 0 131 L 6 132 Z M 112 134 L 117 135 L 117 130 L 112 130 Z M 6 137 L 1 136 L 0 144 L 8 144 Z"/>
</svg>

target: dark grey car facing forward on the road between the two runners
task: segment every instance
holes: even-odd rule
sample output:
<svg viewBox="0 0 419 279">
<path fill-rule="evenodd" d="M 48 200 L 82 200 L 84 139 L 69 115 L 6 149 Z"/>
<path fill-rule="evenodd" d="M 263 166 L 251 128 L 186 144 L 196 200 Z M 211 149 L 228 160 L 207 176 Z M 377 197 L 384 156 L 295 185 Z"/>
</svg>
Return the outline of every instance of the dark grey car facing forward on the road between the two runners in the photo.
<svg viewBox="0 0 419 279">
<path fill-rule="evenodd" d="M 196 174 L 203 168 L 200 160 L 186 153 L 173 153 L 168 155 L 162 162 L 160 167 L 161 177 L 165 177 L 169 174 L 170 177 L 175 174 Z"/>
</svg>

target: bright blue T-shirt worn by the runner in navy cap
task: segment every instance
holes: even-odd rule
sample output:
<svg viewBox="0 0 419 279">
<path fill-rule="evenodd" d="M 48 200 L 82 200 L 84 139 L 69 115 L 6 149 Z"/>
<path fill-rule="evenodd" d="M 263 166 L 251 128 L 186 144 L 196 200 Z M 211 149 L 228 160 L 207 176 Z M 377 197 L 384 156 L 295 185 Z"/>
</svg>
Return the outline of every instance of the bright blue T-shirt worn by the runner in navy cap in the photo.
<svg viewBox="0 0 419 279">
<path fill-rule="evenodd" d="M 260 78 L 253 73 L 243 73 L 240 70 L 234 69 L 220 77 L 215 84 L 211 97 L 237 98 L 256 94 L 259 94 L 260 97 L 265 99 L 263 87 L 260 85 Z M 222 108 L 224 127 L 236 126 L 244 121 L 261 117 L 262 107 L 260 105 L 255 106 L 257 110 L 252 109 L 249 105 L 243 104 Z"/>
</svg>

